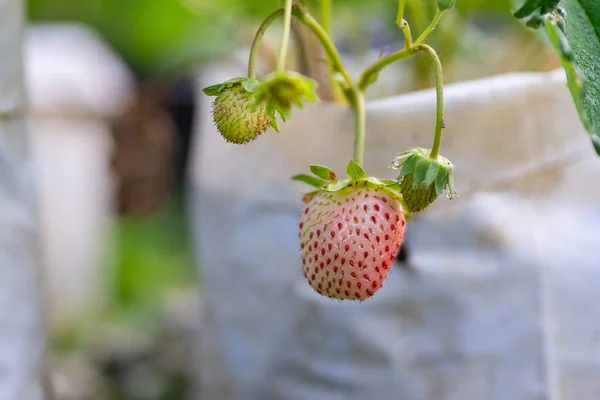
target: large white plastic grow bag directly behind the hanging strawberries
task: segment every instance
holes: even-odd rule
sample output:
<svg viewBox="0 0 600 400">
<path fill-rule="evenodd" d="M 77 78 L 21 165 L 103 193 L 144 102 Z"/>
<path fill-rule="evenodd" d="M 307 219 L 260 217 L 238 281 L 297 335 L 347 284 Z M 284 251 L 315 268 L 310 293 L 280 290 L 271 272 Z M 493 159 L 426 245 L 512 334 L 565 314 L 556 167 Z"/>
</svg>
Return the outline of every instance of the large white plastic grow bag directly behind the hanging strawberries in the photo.
<svg viewBox="0 0 600 400">
<path fill-rule="evenodd" d="M 216 66 L 199 87 L 243 74 Z M 281 135 L 225 143 L 201 97 L 192 182 L 204 296 L 202 399 L 600 398 L 600 159 L 564 73 L 446 87 L 442 154 L 461 196 L 407 227 L 412 270 L 364 303 L 302 276 L 300 195 L 311 163 L 343 173 L 351 112 L 294 111 Z M 429 147 L 432 90 L 368 105 L 366 169 Z"/>
</svg>

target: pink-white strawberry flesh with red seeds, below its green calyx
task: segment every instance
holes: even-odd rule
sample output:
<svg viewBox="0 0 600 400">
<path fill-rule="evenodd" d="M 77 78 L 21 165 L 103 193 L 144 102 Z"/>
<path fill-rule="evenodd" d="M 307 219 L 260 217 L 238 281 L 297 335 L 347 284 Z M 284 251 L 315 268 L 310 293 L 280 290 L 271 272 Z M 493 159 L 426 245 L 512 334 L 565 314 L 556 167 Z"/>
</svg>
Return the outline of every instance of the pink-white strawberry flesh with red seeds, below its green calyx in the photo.
<svg viewBox="0 0 600 400">
<path fill-rule="evenodd" d="M 319 294 L 366 300 L 383 285 L 404 240 L 406 216 L 385 189 L 349 186 L 305 198 L 300 220 L 304 276 Z"/>
</svg>

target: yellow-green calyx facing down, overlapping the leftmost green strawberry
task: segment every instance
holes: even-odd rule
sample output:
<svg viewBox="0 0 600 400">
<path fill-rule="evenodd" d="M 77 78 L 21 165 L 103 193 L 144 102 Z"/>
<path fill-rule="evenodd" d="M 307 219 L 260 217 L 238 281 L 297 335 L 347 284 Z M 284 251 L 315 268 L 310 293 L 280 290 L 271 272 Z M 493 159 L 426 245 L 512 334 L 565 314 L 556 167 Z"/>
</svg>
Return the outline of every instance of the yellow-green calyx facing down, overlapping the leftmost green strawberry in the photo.
<svg viewBox="0 0 600 400">
<path fill-rule="evenodd" d="M 256 105 L 268 112 L 277 111 L 285 122 L 292 106 L 302 108 L 305 101 L 316 102 L 317 82 L 295 72 L 275 72 L 263 78 L 256 88 Z"/>
</svg>

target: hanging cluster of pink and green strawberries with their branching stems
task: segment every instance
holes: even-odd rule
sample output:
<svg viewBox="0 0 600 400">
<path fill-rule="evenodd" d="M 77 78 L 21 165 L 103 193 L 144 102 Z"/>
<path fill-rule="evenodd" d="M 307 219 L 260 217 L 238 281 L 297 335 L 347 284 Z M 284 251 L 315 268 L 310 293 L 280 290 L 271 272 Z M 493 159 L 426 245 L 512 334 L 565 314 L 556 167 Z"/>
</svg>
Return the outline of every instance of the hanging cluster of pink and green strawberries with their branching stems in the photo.
<svg viewBox="0 0 600 400">
<path fill-rule="evenodd" d="M 322 0 L 324 2 L 328 0 Z M 279 132 L 277 116 L 283 122 L 293 106 L 316 102 L 317 83 L 287 71 L 285 55 L 290 19 L 295 16 L 321 41 L 331 65 L 332 81 L 353 107 L 356 116 L 354 155 L 346 168 L 347 178 L 338 179 L 334 171 L 311 165 L 312 175 L 293 177 L 313 186 L 304 194 L 299 222 L 300 249 L 304 276 L 321 295 L 341 300 L 365 300 L 383 285 L 404 240 L 407 216 L 425 210 L 447 189 L 456 195 L 453 165 L 439 155 L 443 122 L 442 70 L 435 51 L 423 41 L 454 0 L 438 0 L 432 24 L 414 42 L 403 19 L 404 1 L 399 1 L 398 26 L 403 30 L 405 48 L 380 58 L 356 82 L 344 68 L 328 33 L 299 3 L 286 0 L 285 7 L 272 13 L 259 28 L 248 66 L 248 77 L 240 77 L 204 89 L 215 96 L 213 117 L 223 138 L 232 143 L 249 143 L 269 127 Z M 257 80 L 254 63 L 260 39 L 276 18 L 284 17 L 284 31 L 277 70 Z M 426 52 L 436 69 L 437 112 L 432 149 L 414 148 L 399 153 L 391 167 L 399 171 L 396 179 L 368 176 L 362 164 L 365 137 L 364 91 L 390 63 Z"/>
</svg>

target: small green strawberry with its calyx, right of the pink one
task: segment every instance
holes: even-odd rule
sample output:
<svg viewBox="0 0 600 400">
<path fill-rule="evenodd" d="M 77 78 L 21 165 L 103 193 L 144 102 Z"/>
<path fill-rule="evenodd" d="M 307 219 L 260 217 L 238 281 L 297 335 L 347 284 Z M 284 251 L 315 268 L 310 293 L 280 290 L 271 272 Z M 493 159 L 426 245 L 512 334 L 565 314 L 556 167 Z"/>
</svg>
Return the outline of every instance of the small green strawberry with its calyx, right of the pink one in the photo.
<svg viewBox="0 0 600 400">
<path fill-rule="evenodd" d="M 408 211 L 418 213 L 433 203 L 448 189 L 448 198 L 458 193 L 454 189 L 454 165 L 445 157 L 430 157 L 428 149 L 415 148 L 398 154 L 391 167 L 398 170 L 399 191 Z"/>
</svg>

